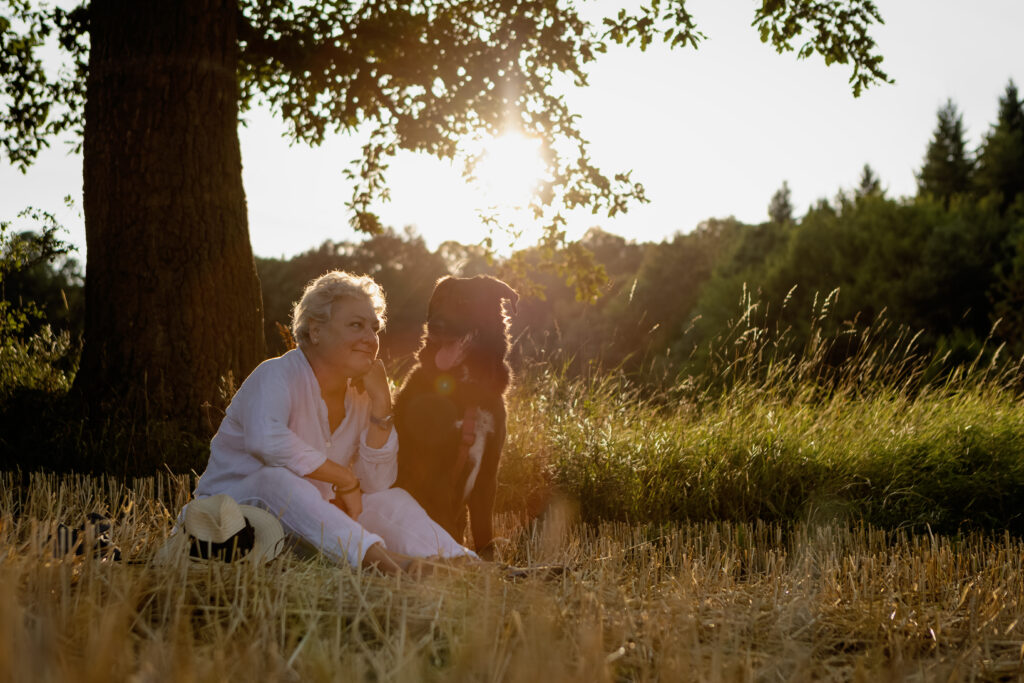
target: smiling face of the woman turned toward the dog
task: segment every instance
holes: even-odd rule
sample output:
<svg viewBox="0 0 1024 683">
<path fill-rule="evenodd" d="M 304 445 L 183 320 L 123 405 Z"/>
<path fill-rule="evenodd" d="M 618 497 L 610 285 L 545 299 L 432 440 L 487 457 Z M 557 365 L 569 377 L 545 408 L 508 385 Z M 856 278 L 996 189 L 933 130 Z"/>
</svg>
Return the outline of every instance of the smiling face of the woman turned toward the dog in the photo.
<svg viewBox="0 0 1024 683">
<path fill-rule="evenodd" d="M 331 319 L 309 326 L 312 350 L 345 377 L 359 377 L 377 359 L 380 321 L 369 297 L 341 297 L 331 305 Z"/>
</svg>

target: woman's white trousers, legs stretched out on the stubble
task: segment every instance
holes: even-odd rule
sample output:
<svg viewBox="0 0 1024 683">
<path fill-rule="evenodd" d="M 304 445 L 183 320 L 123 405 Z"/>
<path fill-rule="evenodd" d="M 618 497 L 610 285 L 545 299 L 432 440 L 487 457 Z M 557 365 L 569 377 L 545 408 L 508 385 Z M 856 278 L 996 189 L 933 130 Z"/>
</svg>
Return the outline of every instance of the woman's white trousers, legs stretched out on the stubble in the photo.
<svg viewBox="0 0 1024 683">
<path fill-rule="evenodd" d="M 325 500 L 312 481 L 284 467 L 263 467 L 217 493 L 271 512 L 281 519 L 286 533 L 352 566 L 362 563 L 375 543 L 414 557 L 476 557 L 403 488 L 365 494 L 358 522 Z"/>
</svg>

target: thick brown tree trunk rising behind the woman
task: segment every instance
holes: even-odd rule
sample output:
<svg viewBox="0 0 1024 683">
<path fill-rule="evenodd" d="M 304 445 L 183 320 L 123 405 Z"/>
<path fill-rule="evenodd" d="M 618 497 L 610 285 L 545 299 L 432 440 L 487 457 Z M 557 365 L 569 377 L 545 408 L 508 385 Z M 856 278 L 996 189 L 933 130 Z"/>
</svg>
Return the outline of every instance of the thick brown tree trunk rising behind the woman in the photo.
<svg viewBox="0 0 1024 683">
<path fill-rule="evenodd" d="M 234 0 L 91 4 L 75 388 L 100 407 L 92 420 L 117 409 L 136 426 L 169 419 L 202 434 L 208 416 L 219 422 L 225 380 L 240 383 L 264 357 L 236 11 Z"/>
</svg>

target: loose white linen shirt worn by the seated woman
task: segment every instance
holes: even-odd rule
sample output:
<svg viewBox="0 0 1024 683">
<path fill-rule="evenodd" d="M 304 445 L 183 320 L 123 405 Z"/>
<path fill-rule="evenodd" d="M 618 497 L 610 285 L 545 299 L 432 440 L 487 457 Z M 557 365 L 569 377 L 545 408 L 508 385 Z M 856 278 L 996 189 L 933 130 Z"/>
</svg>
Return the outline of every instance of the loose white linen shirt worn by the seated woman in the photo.
<svg viewBox="0 0 1024 683">
<path fill-rule="evenodd" d="M 350 384 L 345 418 L 332 433 L 319 384 L 302 350 L 264 360 L 227 407 L 196 498 L 223 493 L 261 467 L 286 467 L 304 477 L 329 458 L 350 467 L 365 493 L 388 488 L 398 474 L 398 437 L 392 429 L 381 447 L 367 445 L 370 409 L 370 396 Z M 334 498 L 330 484 L 309 481 L 325 500 Z"/>
</svg>

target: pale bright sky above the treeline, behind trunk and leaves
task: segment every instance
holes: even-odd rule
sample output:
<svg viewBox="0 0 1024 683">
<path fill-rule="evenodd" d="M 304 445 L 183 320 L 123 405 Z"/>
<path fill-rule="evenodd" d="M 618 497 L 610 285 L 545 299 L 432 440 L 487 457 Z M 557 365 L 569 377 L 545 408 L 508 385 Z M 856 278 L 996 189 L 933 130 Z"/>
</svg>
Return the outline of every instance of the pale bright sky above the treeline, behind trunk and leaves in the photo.
<svg viewBox="0 0 1024 683">
<path fill-rule="evenodd" d="M 915 193 L 913 173 L 952 97 L 972 146 L 995 121 L 1009 79 L 1024 90 L 1021 0 L 880 0 L 886 25 L 874 31 L 895 85 L 854 99 L 849 70 L 814 56 L 798 61 L 763 45 L 750 22 L 756 3 L 689 0 L 708 36 L 696 51 L 654 46 L 615 49 L 591 72 L 591 86 L 568 93 L 582 115 L 592 158 L 608 173 L 632 169 L 650 204 L 615 219 L 573 216 L 570 237 L 602 228 L 636 241 L 659 241 L 709 217 L 745 222 L 767 217 L 772 194 L 788 181 L 798 215 L 821 197 L 856 184 L 869 163 L 889 195 Z M 253 250 L 292 256 L 325 240 L 358 239 L 344 204 L 342 176 L 360 140 L 335 137 L 310 150 L 290 145 L 284 126 L 254 112 L 240 130 Z M 81 158 L 56 148 L 22 175 L 0 168 L 0 219 L 26 206 L 55 211 L 84 254 L 77 211 Z M 433 248 L 445 240 L 478 242 L 475 209 L 484 204 L 459 167 L 402 154 L 391 164 L 385 224 L 413 225 Z"/>
</svg>

